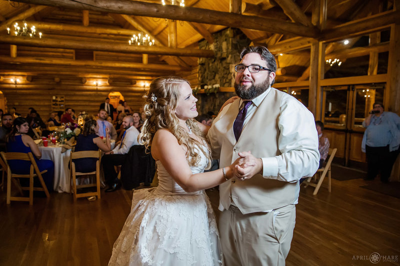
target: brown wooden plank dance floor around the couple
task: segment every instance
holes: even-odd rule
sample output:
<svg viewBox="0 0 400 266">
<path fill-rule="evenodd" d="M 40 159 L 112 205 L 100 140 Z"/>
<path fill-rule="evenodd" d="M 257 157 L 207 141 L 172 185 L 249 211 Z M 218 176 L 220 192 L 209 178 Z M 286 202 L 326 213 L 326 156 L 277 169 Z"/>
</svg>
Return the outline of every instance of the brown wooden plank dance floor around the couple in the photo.
<svg viewBox="0 0 400 266">
<path fill-rule="evenodd" d="M 316 196 L 301 188 L 286 265 L 370 266 L 372 253 L 381 256 L 377 265 L 400 265 L 400 199 L 360 188 L 366 184 L 332 179 L 332 193 L 321 188 Z M 215 208 L 218 192 L 207 194 Z M 7 206 L 0 192 L 0 265 L 107 265 L 131 197 L 132 191 L 119 190 L 73 203 L 71 195 L 53 193 L 49 200 L 34 198 L 33 206 Z M 383 256 L 397 257 L 383 262 Z"/>
</svg>

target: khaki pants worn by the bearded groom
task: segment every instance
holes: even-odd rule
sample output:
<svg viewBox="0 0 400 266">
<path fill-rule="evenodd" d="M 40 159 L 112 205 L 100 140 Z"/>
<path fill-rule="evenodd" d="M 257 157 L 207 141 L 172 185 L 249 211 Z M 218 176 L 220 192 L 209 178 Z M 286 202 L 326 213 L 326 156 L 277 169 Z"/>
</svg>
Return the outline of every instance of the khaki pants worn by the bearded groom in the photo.
<svg viewBox="0 0 400 266">
<path fill-rule="evenodd" d="M 243 215 L 230 206 L 219 217 L 226 266 L 284 266 L 295 224 L 295 206 Z"/>
</svg>

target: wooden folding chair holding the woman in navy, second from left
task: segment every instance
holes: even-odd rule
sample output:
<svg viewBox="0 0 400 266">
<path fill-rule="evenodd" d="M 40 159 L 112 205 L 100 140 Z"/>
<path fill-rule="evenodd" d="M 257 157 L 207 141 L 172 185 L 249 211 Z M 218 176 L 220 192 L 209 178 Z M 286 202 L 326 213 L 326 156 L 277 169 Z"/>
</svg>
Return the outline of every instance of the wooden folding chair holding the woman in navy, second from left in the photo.
<svg viewBox="0 0 400 266">
<path fill-rule="evenodd" d="M 96 162 L 96 171 L 89 173 L 82 173 L 75 171 L 75 163 L 72 162 L 72 159 L 81 159 L 81 158 L 97 158 Z M 71 182 L 72 182 L 72 193 L 73 199 L 97 196 L 98 199 L 101 198 L 100 194 L 100 160 L 101 160 L 101 151 L 79 151 L 79 152 L 71 152 L 71 156 L 69 159 L 70 170 L 71 170 Z M 76 185 L 76 176 L 83 175 L 96 175 L 96 183 L 85 184 L 85 185 Z M 86 192 L 86 193 L 76 193 L 76 189 L 78 188 L 88 188 L 88 187 L 96 187 L 96 192 Z"/>
</svg>

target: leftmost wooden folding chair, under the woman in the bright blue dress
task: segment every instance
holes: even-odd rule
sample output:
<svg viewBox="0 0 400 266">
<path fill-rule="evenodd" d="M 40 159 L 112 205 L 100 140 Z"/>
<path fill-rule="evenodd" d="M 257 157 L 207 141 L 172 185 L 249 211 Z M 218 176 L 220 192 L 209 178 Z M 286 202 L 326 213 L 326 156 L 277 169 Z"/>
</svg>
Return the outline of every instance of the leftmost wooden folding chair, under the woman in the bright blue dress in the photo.
<svg viewBox="0 0 400 266">
<path fill-rule="evenodd" d="M 46 197 L 49 198 L 50 194 L 48 193 L 48 190 L 46 188 L 46 185 L 44 184 L 43 177 L 41 176 L 47 170 L 39 171 L 39 168 L 37 167 L 36 161 L 33 159 L 33 155 L 31 152 L 29 153 L 19 153 L 19 152 L 1 152 L 1 157 L 4 160 L 4 163 L 6 165 L 7 169 L 7 204 L 10 204 L 11 201 L 28 201 L 29 205 L 33 204 L 33 191 L 44 191 L 46 194 Z M 29 174 L 27 175 L 21 175 L 21 174 L 13 174 L 11 172 L 11 169 L 9 168 L 8 165 L 8 160 L 24 160 L 24 161 L 30 161 L 30 170 Z M 41 184 L 41 188 L 36 188 L 33 187 L 33 178 L 37 177 L 39 179 L 39 182 Z M 19 180 L 16 180 L 16 178 L 29 178 L 29 187 L 21 187 L 19 184 Z M 29 197 L 11 197 L 11 181 L 16 185 L 17 189 L 23 196 L 23 190 L 29 190 Z"/>
</svg>

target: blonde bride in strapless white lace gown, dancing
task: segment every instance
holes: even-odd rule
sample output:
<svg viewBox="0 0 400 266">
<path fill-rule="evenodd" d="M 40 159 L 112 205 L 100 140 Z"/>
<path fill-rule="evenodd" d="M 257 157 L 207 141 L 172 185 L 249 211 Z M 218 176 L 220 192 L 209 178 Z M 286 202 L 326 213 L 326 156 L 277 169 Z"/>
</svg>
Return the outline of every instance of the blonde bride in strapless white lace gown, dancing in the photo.
<svg viewBox="0 0 400 266">
<path fill-rule="evenodd" d="M 159 185 L 134 191 L 108 265 L 223 265 L 204 189 L 234 178 L 234 171 L 248 164 L 238 165 L 238 158 L 228 167 L 203 173 L 211 162 L 203 137 L 208 127 L 193 119 L 197 99 L 187 80 L 156 78 L 145 97 L 147 119 L 138 138 L 146 148 L 151 146 Z"/>
</svg>

